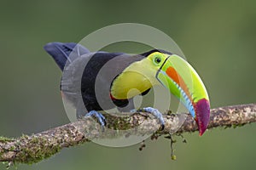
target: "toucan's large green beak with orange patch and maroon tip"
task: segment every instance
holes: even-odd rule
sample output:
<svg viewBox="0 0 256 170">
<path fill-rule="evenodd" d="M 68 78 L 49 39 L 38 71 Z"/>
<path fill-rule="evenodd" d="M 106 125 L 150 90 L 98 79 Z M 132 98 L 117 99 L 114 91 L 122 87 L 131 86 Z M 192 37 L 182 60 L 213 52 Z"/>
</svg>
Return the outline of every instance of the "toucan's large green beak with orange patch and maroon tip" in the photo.
<svg viewBox="0 0 256 170">
<path fill-rule="evenodd" d="M 161 65 L 156 78 L 185 105 L 195 118 L 201 136 L 209 123 L 210 103 L 207 89 L 194 68 L 181 57 L 172 54 Z"/>
</svg>

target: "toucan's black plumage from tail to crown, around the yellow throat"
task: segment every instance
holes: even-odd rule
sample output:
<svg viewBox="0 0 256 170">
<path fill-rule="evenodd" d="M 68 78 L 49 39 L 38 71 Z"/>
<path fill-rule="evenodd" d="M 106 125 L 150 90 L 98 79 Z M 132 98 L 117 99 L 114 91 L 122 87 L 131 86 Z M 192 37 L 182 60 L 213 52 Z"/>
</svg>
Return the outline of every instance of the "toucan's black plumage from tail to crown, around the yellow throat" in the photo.
<svg viewBox="0 0 256 170">
<path fill-rule="evenodd" d="M 112 109 L 116 106 L 121 111 L 124 111 L 122 108 L 125 107 L 125 111 L 133 109 L 132 99 L 111 98 L 111 84 L 127 66 L 144 59 L 156 50 L 141 55 L 90 53 L 87 48 L 76 45 L 73 42 L 50 42 L 44 46 L 44 49 L 63 71 L 61 91 L 77 109 L 77 116 L 84 116 L 89 111 Z M 143 95 L 148 91 L 149 89 Z"/>
</svg>

